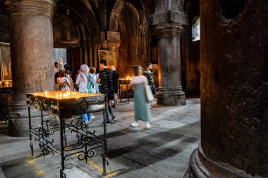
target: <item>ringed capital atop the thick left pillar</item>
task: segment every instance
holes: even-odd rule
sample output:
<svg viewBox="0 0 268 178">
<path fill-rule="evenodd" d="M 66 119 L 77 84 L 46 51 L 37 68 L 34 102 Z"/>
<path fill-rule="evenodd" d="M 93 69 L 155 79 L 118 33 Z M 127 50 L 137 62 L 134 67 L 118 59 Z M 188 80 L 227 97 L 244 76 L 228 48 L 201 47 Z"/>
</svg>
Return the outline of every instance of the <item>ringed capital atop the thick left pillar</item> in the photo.
<svg viewBox="0 0 268 178">
<path fill-rule="evenodd" d="M 8 15 L 45 15 L 52 20 L 55 3 L 53 0 L 9 0 L 4 1 Z"/>
</svg>

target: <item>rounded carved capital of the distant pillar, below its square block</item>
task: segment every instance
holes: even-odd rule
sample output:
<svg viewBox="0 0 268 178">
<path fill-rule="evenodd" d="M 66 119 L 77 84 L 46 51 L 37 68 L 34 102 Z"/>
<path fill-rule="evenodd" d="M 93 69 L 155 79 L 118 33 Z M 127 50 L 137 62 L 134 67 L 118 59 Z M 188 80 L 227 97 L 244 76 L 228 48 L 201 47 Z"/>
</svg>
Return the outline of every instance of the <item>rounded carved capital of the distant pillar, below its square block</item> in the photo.
<svg viewBox="0 0 268 178">
<path fill-rule="evenodd" d="M 180 37 L 183 27 L 178 23 L 162 23 L 157 25 L 155 30 L 157 37 Z"/>
</svg>

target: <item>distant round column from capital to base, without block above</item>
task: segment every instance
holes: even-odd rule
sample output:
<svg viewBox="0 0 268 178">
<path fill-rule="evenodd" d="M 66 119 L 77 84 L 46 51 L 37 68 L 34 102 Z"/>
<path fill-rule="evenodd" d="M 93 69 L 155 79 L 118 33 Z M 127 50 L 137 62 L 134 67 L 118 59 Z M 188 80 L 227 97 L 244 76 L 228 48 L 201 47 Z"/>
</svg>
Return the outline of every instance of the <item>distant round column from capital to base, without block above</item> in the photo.
<svg viewBox="0 0 268 178">
<path fill-rule="evenodd" d="M 159 91 L 157 104 L 181 106 L 186 104 L 181 87 L 180 35 L 183 30 L 177 23 L 157 25 L 159 49 Z"/>
</svg>

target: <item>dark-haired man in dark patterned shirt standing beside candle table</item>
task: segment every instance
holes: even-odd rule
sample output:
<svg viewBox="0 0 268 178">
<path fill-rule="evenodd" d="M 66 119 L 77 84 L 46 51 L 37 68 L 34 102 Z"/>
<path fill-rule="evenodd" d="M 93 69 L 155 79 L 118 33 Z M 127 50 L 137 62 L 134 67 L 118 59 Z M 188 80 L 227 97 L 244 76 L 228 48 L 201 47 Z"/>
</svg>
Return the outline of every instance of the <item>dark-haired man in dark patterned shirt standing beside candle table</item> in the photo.
<svg viewBox="0 0 268 178">
<path fill-rule="evenodd" d="M 99 91 L 102 94 L 105 94 L 108 98 L 108 110 L 106 110 L 106 125 L 111 125 L 111 121 L 109 119 L 109 113 L 112 116 L 112 120 L 117 120 L 116 116 L 114 115 L 114 110 L 111 108 L 111 100 L 114 100 L 114 85 L 113 85 L 113 75 L 109 68 L 107 68 L 107 61 L 106 59 L 102 59 L 99 61 L 99 78 L 97 82 L 100 85 Z"/>
</svg>

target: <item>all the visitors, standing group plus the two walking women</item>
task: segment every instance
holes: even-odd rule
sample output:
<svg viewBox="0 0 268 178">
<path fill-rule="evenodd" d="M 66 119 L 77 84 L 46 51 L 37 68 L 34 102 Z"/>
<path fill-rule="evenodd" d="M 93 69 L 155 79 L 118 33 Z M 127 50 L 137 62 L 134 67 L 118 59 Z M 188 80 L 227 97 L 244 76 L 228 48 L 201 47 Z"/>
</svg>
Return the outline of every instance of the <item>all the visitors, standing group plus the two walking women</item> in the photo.
<svg viewBox="0 0 268 178">
<path fill-rule="evenodd" d="M 111 65 L 110 68 L 107 67 L 108 63 L 106 59 L 99 61 L 99 73 L 96 74 L 96 69 L 94 67 L 88 67 L 86 64 L 80 66 L 78 70 L 78 75 L 75 76 L 75 85 L 71 78 L 70 70 L 60 70 L 59 63 L 54 63 L 55 66 L 55 91 L 79 91 L 89 94 L 105 94 L 108 101 L 108 108 L 105 112 L 106 125 L 111 125 L 111 122 L 117 120 L 114 115 L 113 108 L 117 108 L 118 103 L 118 79 L 119 74 Z M 147 101 L 145 84 L 149 84 L 152 94 L 155 96 L 157 94 L 157 89 L 154 85 L 154 77 L 152 73 L 152 63 L 147 63 L 145 72 L 142 72 L 140 66 L 134 66 L 134 77 L 130 81 L 134 91 L 134 101 L 135 101 L 135 122 L 131 124 L 132 127 L 139 127 L 138 120 L 147 122 L 146 128 L 150 129 L 151 125 L 149 123 L 152 117 L 152 112 L 150 109 L 150 102 Z M 111 105 L 111 101 L 114 100 L 114 105 Z M 111 117 L 110 117 L 111 115 Z M 87 113 L 82 115 L 83 121 L 85 123 L 91 122 L 94 116 L 92 113 Z M 111 119 L 110 119 L 111 118 Z"/>
</svg>

